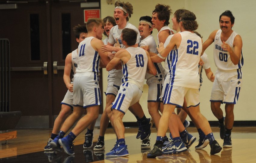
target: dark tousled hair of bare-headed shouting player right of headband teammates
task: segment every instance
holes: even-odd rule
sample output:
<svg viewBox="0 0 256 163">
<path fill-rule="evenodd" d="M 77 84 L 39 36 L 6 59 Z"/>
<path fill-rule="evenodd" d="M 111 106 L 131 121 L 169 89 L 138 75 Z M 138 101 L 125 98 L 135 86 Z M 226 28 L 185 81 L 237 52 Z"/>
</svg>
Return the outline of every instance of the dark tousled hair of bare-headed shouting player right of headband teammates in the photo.
<svg viewBox="0 0 256 163">
<path fill-rule="evenodd" d="M 155 6 L 155 10 L 152 12 L 152 14 L 157 13 L 159 20 L 165 20 L 165 25 L 167 26 L 170 24 L 170 14 L 172 14 L 172 10 L 169 5 L 163 5 L 163 4 L 157 4 Z"/>
</svg>

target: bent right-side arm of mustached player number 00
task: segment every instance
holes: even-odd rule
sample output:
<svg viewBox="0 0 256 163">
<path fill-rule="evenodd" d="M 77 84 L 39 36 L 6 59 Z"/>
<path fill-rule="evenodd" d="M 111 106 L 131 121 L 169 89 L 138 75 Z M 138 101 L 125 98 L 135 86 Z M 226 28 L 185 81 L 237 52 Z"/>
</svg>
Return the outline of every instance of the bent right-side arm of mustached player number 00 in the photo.
<svg viewBox="0 0 256 163">
<path fill-rule="evenodd" d="M 234 42 L 233 42 L 234 50 L 229 46 L 229 44 L 223 42 L 221 47 L 229 52 L 230 59 L 234 65 L 237 65 L 240 61 L 241 51 L 242 51 L 242 38 L 240 35 L 236 35 Z"/>
</svg>

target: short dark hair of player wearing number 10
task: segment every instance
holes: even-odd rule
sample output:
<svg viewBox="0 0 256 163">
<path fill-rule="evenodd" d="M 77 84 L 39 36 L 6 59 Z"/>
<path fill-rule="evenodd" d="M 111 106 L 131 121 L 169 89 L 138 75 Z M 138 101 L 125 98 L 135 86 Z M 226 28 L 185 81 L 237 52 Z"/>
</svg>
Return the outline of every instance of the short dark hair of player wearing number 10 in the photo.
<svg viewBox="0 0 256 163">
<path fill-rule="evenodd" d="M 135 45 L 137 40 L 137 35 L 138 35 L 138 33 L 135 30 L 125 28 L 122 30 L 122 34 L 123 34 L 122 35 L 123 41 L 125 41 L 127 45 L 129 46 Z"/>
</svg>

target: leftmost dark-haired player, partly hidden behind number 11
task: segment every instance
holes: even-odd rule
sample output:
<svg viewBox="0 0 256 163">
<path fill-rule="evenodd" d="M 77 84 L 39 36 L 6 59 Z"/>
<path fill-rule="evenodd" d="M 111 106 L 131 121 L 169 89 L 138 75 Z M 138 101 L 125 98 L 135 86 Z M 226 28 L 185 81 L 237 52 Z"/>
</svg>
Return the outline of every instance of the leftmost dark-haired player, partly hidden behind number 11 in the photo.
<svg viewBox="0 0 256 163">
<path fill-rule="evenodd" d="M 78 24 L 77 26 L 74 26 L 73 32 L 75 34 L 76 42 L 78 44 L 80 44 L 80 42 L 87 37 L 87 29 L 85 25 Z M 65 59 L 63 80 L 68 90 L 63 101 L 61 102 L 61 111 L 54 121 L 51 138 L 49 138 L 47 145 L 44 147 L 45 151 L 52 150 L 52 146 L 50 145 L 50 142 L 57 136 L 58 132 L 60 131 L 61 125 L 63 124 L 67 116 L 70 115 L 73 109 L 73 79 L 74 78 L 70 82 L 70 72 L 71 70 L 73 70 L 73 75 L 76 74 L 77 53 L 78 53 L 77 50 L 78 49 L 74 50 L 72 53 L 69 53 Z"/>
</svg>

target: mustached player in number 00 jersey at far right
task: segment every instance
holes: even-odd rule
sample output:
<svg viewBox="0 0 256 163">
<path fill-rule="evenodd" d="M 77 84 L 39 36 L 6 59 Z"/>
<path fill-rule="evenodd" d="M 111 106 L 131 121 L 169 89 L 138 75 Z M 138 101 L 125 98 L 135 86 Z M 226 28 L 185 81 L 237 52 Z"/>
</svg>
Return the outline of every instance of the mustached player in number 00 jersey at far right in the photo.
<svg viewBox="0 0 256 163">
<path fill-rule="evenodd" d="M 213 31 L 203 44 L 203 50 L 214 42 L 214 62 L 217 66 L 212 92 L 211 110 L 220 123 L 220 138 L 223 147 L 232 147 L 231 130 L 234 124 L 234 105 L 242 87 L 242 38 L 232 27 L 235 17 L 227 10 L 220 15 L 220 29 Z M 225 104 L 225 125 L 220 104 Z M 225 131 L 226 130 L 226 131 Z"/>
</svg>

